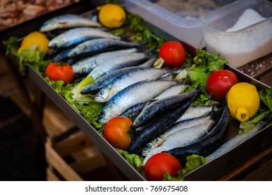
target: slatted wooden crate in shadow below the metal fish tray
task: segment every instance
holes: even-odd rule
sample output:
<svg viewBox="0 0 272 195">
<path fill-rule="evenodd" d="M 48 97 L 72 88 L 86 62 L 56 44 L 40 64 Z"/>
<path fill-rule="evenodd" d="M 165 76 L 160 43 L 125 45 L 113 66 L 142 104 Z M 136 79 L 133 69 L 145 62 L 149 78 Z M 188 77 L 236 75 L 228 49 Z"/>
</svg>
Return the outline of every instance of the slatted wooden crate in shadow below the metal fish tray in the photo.
<svg viewBox="0 0 272 195">
<path fill-rule="evenodd" d="M 81 132 L 80 132 L 81 133 Z M 76 136 L 76 139 L 80 139 L 81 134 Z M 77 140 L 68 139 L 65 140 L 66 148 L 65 152 L 61 150 L 62 146 L 59 144 L 53 144 L 50 139 L 45 143 L 45 155 L 47 159 L 47 180 L 69 180 L 69 181 L 80 181 L 84 180 L 84 175 L 101 169 L 106 166 L 105 159 L 100 153 L 100 150 L 96 146 L 87 146 L 86 148 L 76 150 L 75 148 L 82 148 L 82 145 L 78 145 Z M 67 143 L 70 143 L 67 145 Z M 58 152 L 59 150 L 59 152 Z M 68 152 L 71 153 L 68 153 Z"/>
</svg>

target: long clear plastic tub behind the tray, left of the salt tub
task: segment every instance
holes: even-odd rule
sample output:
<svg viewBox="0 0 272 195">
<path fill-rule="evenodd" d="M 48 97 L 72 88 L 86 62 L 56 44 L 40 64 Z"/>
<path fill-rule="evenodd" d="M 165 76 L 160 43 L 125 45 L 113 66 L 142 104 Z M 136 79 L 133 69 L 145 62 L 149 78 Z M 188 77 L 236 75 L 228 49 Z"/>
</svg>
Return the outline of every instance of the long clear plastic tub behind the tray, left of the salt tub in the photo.
<svg viewBox="0 0 272 195">
<path fill-rule="evenodd" d="M 203 48 L 205 45 L 200 21 L 203 11 L 219 8 L 234 0 L 191 1 L 193 2 L 176 1 L 176 8 L 174 7 L 174 0 L 125 0 L 125 4 L 127 10 L 141 15 L 150 24 L 188 45 Z M 196 12 L 197 10 L 199 13 Z"/>
</svg>

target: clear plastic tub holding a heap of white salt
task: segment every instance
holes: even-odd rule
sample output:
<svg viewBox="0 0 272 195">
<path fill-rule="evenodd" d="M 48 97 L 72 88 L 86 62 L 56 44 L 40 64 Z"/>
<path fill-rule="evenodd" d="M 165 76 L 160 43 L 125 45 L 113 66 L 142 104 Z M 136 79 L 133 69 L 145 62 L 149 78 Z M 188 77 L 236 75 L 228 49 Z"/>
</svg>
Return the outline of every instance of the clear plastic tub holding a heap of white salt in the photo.
<svg viewBox="0 0 272 195">
<path fill-rule="evenodd" d="M 248 9 L 266 19 L 237 31 L 226 32 L 241 21 Z M 252 18 L 246 20 L 248 22 Z M 202 15 L 201 21 L 207 52 L 220 54 L 234 68 L 272 52 L 272 3 L 269 1 L 236 1 Z"/>
</svg>

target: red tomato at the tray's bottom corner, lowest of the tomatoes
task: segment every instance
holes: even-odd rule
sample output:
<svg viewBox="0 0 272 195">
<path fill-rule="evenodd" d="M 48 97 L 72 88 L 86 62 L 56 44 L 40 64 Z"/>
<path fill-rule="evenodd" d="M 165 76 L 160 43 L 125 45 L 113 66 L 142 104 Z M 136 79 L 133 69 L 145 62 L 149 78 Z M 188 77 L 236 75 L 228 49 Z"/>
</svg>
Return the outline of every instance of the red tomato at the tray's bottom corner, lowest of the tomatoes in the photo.
<svg viewBox="0 0 272 195">
<path fill-rule="evenodd" d="M 158 153 L 147 160 L 144 165 L 144 175 L 153 181 L 162 181 L 165 173 L 172 177 L 178 177 L 178 171 L 182 169 L 181 162 L 167 153 Z"/>
</svg>

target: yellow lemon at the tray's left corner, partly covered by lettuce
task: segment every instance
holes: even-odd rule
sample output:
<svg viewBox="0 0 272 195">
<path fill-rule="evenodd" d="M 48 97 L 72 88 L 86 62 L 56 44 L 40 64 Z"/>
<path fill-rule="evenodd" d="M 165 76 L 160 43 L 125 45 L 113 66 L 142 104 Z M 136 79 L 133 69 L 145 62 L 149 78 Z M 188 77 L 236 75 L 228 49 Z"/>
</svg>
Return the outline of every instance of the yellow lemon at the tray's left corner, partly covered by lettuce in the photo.
<svg viewBox="0 0 272 195">
<path fill-rule="evenodd" d="M 41 32 L 33 32 L 29 33 L 23 40 L 20 48 L 18 49 L 18 53 L 22 51 L 22 49 L 28 49 L 35 45 L 38 45 L 39 49 L 44 49 L 45 52 L 49 52 L 48 43 L 49 39 L 45 36 L 44 33 Z"/>
</svg>

